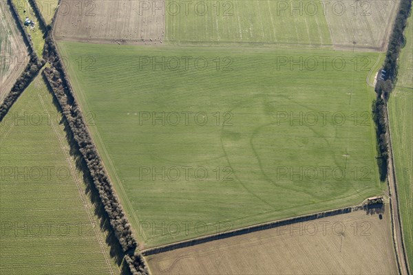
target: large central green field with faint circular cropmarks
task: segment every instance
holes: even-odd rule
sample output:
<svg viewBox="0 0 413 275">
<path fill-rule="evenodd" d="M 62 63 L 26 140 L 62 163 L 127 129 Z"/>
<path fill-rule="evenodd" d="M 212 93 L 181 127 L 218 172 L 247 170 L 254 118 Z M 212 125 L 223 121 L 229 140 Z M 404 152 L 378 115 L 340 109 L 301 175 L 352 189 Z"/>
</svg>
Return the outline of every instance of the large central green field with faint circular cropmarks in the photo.
<svg viewBox="0 0 413 275">
<path fill-rule="evenodd" d="M 378 54 L 59 47 L 145 247 L 350 206 L 386 188 L 377 178 L 374 94 L 366 83 Z M 151 56 L 165 57 L 165 68 L 145 65 Z M 281 65 L 300 56 L 302 70 Z M 346 66 L 310 70 L 311 58 L 343 58 Z"/>
</svg>

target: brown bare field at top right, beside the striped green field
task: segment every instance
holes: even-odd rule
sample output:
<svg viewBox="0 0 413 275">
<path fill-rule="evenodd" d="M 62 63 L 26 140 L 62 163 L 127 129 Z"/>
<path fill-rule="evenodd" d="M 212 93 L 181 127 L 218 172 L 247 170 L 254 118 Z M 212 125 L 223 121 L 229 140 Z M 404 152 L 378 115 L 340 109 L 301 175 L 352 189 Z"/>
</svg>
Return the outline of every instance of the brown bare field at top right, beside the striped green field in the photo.
<svg viewBox="0 0 413 275">
<path fill-rule="evenodd" d="M 336 50 L 385 50 L 399 1 L 329 1 L 324 12 Z"/>
</svg>

